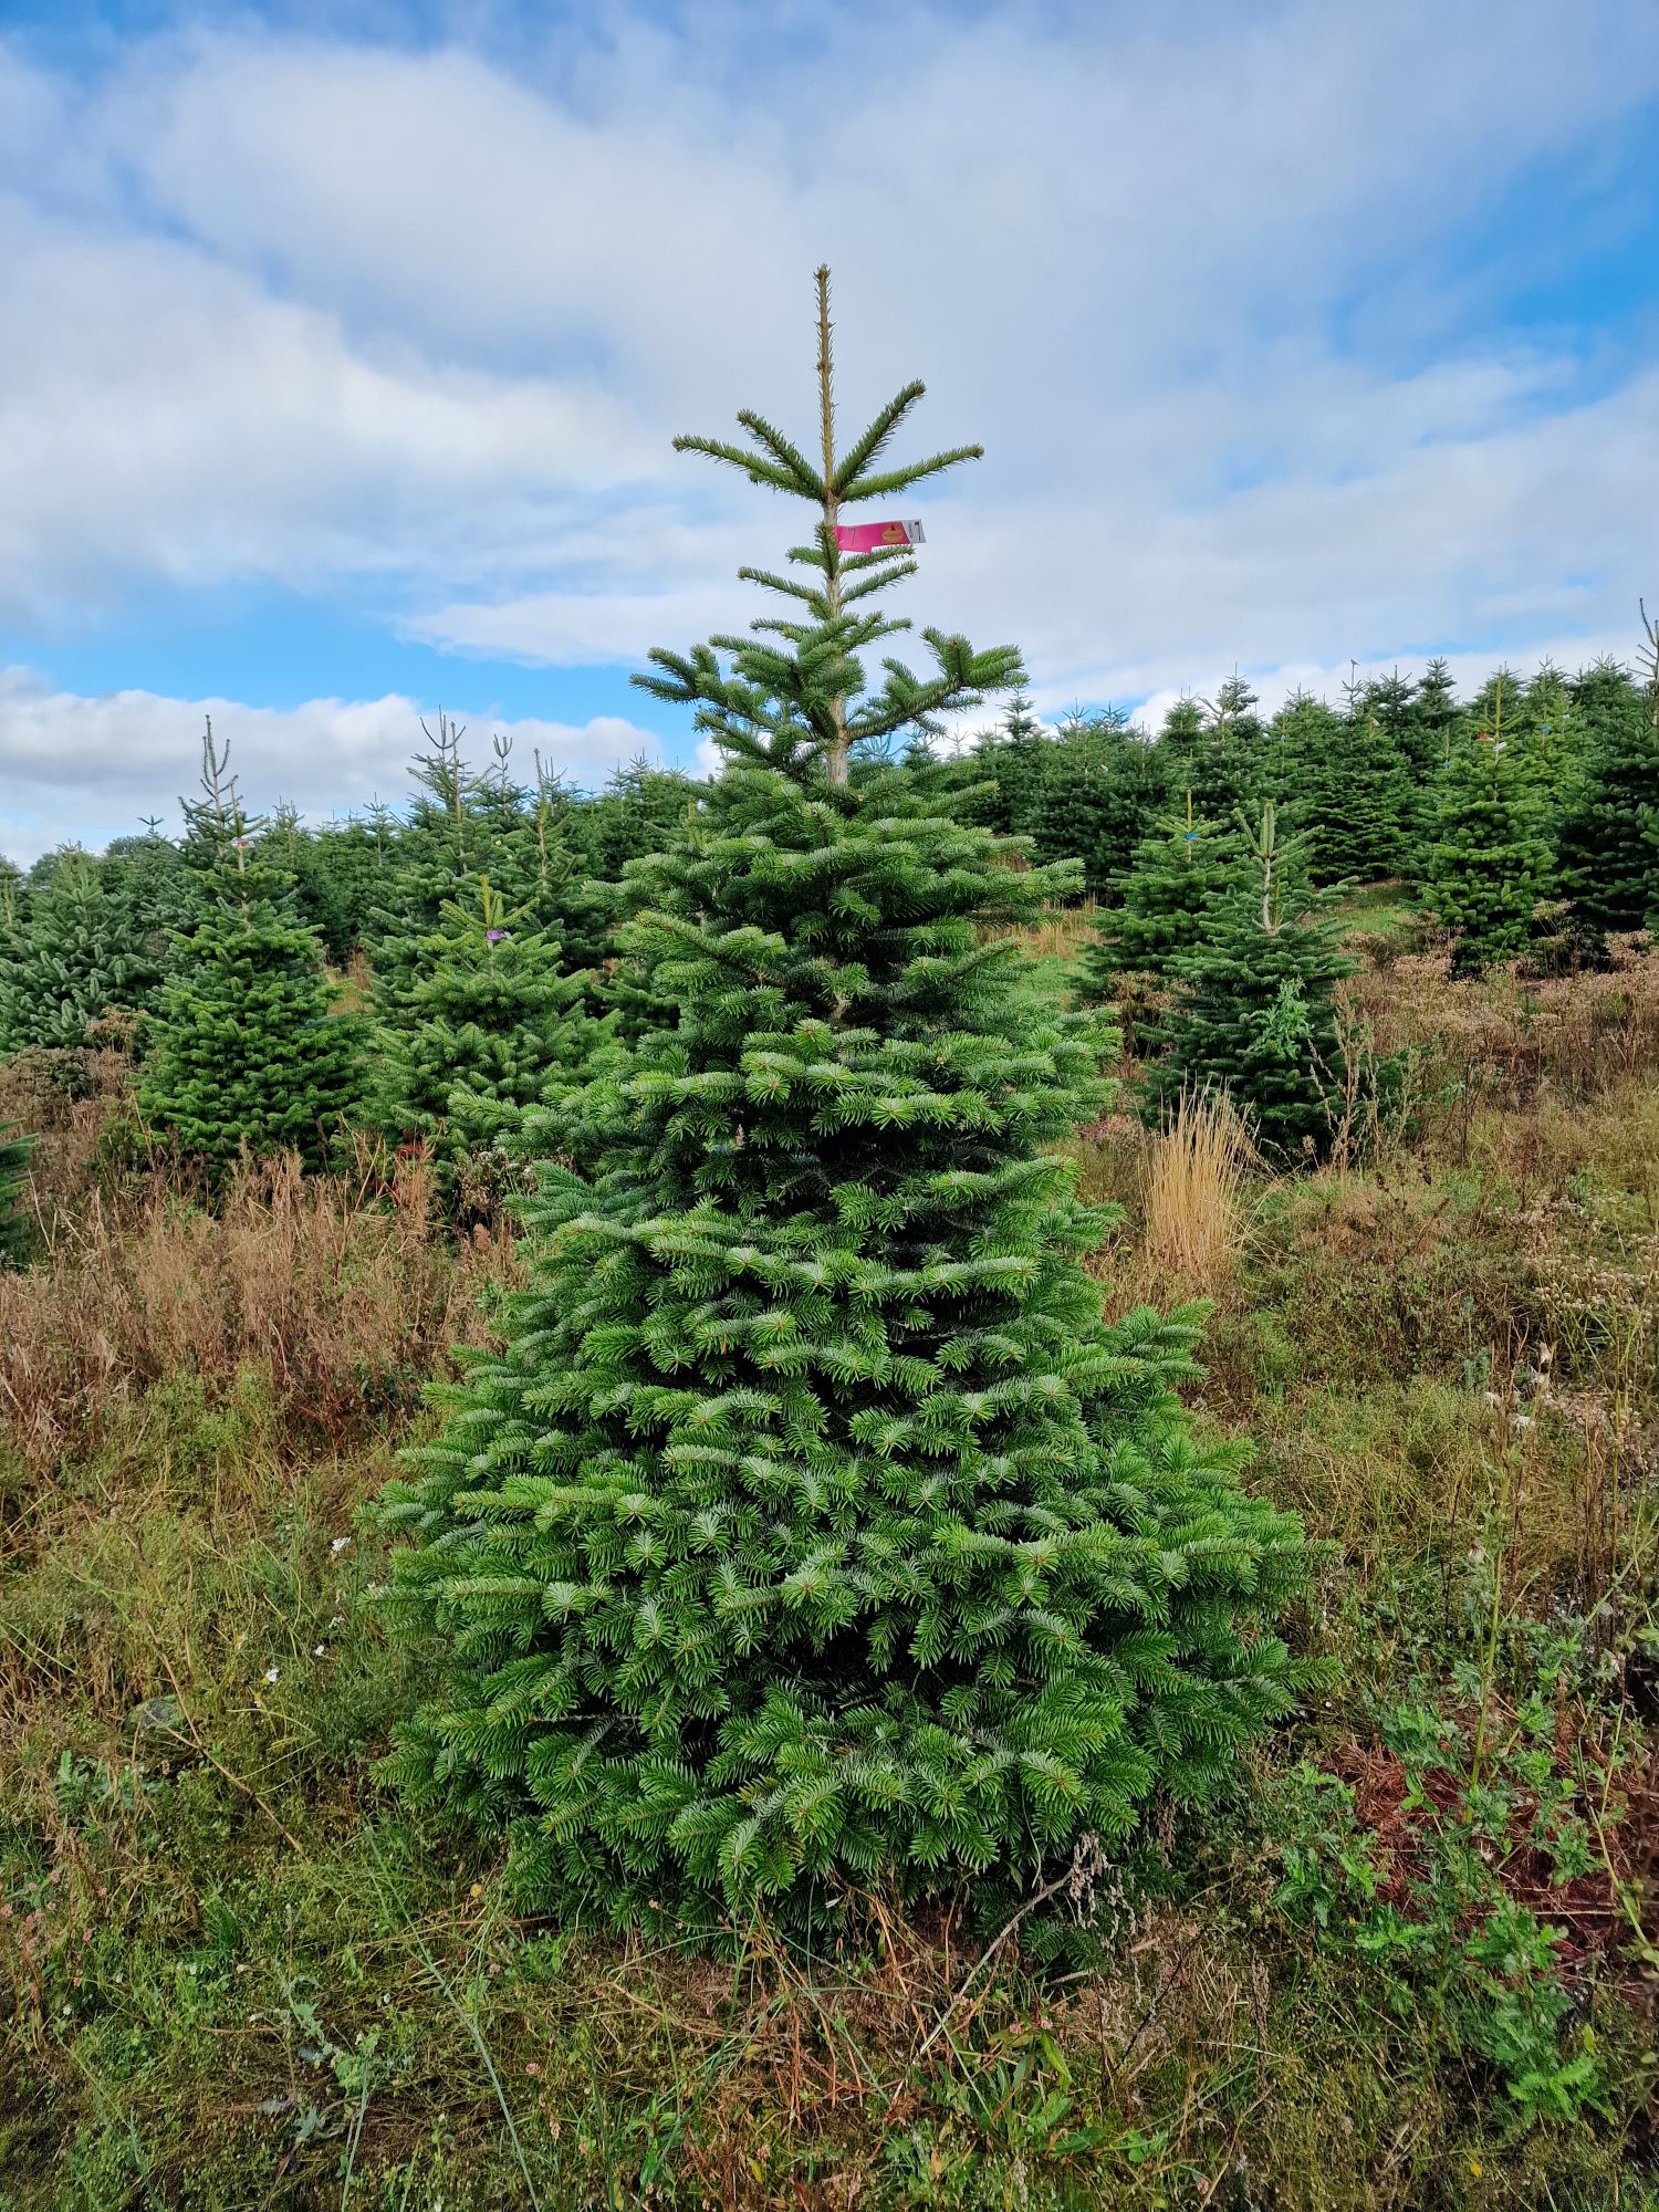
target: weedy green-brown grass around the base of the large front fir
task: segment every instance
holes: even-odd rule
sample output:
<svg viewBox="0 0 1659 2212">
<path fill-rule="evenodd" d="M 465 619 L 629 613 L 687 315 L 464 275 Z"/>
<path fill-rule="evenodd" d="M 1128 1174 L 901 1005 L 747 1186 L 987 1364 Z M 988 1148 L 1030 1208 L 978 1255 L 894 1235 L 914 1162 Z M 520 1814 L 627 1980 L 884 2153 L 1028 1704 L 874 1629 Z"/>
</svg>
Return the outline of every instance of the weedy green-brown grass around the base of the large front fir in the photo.
<svg viewBox="0 0 1659 2212">
<path fill-rule="evenodd" d="M 365 1502 L 422 1416 L 323 1442 L 248 1365 L 18 1442 L 0 2205 L 1659 2203 L 1659 1073 L 1553 1113 L 1256 1188 L 1199 1405 L 1332 1540 L 1290 1632 L 1338 1679 L 1082 1973 L 880 1900 L 832 1958 L 518 1918 L 376 1781 L 425 1657 Z M 1084 1168 L 1157 1294 L 1144 1141 Z"/>
</svg>

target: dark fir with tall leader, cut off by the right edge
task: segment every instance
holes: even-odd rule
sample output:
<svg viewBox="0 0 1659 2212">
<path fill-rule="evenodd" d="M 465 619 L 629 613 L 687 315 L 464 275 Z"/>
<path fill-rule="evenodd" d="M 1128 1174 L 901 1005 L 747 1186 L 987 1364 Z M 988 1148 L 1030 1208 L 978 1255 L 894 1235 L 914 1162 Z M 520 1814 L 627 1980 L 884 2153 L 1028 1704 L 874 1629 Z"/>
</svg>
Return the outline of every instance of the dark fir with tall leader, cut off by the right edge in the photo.
<svg viewBox="0 0 1659 2212">
<path fill-rule="evenodd" d="M 1613 933 L 1659 931 L 1659 624 L 1641 608 L 1646 697 L 1624 670 L 1579 677 L 1593 750 L 1555 845 L 1562 891 L 1582 951 L 1606 956 Z"/>
</svg>

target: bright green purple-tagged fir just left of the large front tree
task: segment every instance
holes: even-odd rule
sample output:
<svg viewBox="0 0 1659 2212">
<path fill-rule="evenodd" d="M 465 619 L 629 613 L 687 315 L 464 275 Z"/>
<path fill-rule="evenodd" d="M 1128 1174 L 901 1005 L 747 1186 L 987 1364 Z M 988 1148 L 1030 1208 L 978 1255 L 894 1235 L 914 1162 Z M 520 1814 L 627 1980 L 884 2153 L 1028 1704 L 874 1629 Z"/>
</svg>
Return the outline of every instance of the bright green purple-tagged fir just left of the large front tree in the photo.
<svg viewBox="0 0 1659 2212">
<path fill-rule="evenodd" d="M 575 1079 L 608 1029 L 584 1006 L 584 978 L 487 876 L 445 900 L 420 942 L 403 1002 L 376 991 L 376 1104 L 394 1141 L 427 1139 L 442 1161 L 518 1148 L 524 1110 Z"/>
</svg>

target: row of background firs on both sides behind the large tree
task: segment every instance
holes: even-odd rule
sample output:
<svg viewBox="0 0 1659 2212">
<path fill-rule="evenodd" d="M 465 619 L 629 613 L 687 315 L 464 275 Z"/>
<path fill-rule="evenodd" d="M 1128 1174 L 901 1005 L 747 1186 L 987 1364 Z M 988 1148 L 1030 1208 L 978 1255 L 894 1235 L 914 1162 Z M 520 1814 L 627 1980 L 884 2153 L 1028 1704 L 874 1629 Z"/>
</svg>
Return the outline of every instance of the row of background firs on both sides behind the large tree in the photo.
<svg viewBox="0 0 1659 2212">
<path fill-rule="evenodd" d="M 150 821 L 102 856 L 7 869 L 0 1057 L 73 1053 L 124 1011 L 148 1133 L 210 1172 L 241 1150 L 321 1159 L 356 1124 L 425 1144 L 462 1210 L 493 1203 L 524 1110 L 650 1018 L 615 945 L 630 863 L 706 787 L 637 763 L 584 796 L 540 761 L 522 783 L 502 743 L 469 765 L 442 717 L 427 737 L 400 814 L 307 827 L 248 821 L 208 732 L 181 838 Z M 1040 865 L 1079 863 L 1102 907 L 1079 993 L 1117 1006 L 1148 1110 L 1228 1088 L 1281 1159 L 1321 1152 L 1352 1104 L 1340 887 L 1402 876 L 1462 971 L 1595 962 L 1659 922 L 1659 677 L 1613 661 L 1500 670 L 1469 701 L 1431 661 L 1270 719 L 1230 681 L 1152 739 L 1121 714 L 1042 726 L 1018 692 L 967 748 L 920 732 L 880 752 Z M 372 987 L 343 1013 L 330 971 L 354 960 Z M 0 1210 L 24 1159 L 4 1144 Z"/>
</svg>

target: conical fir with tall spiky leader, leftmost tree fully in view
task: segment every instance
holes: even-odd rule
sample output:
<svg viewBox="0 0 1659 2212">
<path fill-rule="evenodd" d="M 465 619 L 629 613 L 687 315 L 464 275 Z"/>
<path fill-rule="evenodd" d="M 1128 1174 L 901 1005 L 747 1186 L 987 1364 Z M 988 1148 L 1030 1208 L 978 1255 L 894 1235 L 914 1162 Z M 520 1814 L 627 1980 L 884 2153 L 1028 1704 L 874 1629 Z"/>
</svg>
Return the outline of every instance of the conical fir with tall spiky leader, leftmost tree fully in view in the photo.
<svg viewBox="0 0 1659 2212">
<path fill-rule="evenodd" d="M 155 1133 L 223 1170 L 243 1150 L 319 1164 L 361 1088 L 361 1035 L 330 1013 L 316 931 L 292 878 L 252 849 L 226 750 L 204 741 L 188 805 L 190 905 L 173 940 L 139 1106 Z"/>
</svg>

